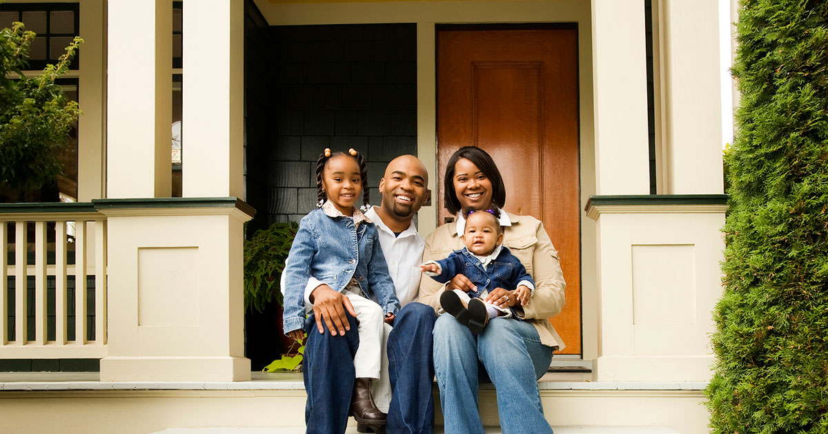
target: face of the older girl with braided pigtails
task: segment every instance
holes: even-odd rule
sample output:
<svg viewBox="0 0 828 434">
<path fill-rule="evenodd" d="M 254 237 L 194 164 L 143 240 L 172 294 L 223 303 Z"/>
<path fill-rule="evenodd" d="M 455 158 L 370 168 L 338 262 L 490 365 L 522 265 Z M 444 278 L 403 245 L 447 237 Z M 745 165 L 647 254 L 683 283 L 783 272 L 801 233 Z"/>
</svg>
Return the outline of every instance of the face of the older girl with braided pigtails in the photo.
<svg viewBox="0 0 828 434">
<path fill-rule="evenodd" d="M 362 193 L 362 175 L 357 160 L 348 155 L 328 159 L 322 169 L 322 191 L 339 212 L 354 215 L 354 203 Z"/>
</svg>

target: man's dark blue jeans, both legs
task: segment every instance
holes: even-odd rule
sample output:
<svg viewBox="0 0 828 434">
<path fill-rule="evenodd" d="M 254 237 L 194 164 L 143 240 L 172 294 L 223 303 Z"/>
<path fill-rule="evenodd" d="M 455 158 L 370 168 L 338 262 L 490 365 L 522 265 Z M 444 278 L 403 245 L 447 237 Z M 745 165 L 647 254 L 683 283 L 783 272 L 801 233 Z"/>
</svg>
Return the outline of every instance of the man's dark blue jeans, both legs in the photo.
<svg viewBox="0 0 828 434">
<path fill-rule="evenodd" d="M 308 433 L 344 432 L 354 389 L 354 352 L 359 334 L 354 317 L 347 312 L 351 329 L 345 336 L 316 330 L 313 315 L 306 321 L 304 379 L 308 399 L 305 422 Z M 434 398 L 431 379 L 431 331 L 436 314 L 421 303 L 409 303 L 397 312 L 388 336 L 388 374 L 392 398 L 388 409 L 388 434 L 431 434 Z"/>
</svg>

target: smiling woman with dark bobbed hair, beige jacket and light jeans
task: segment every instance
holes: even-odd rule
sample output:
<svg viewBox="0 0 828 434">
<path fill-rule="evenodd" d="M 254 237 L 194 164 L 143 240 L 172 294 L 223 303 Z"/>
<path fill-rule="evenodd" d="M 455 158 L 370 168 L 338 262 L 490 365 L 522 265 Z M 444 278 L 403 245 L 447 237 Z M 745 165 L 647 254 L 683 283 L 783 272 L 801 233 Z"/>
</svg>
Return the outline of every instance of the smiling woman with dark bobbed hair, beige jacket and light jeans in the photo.
<svg viewBox="0 0 828 434">
<path fill-rule="evenodd" d="M 451 155 L 445 169 L 444 190 L 445 207 L 457 216 L 456 221 L 438 227 L 426 237 L 423 263 L 443 259 L 463 246 L 460 240 L 465 227 L 460 215 L 462 208 L 489 209 L 492 204 L 503 207 L 506 202 L 497 165 L 484 150 L 472 146 L 460 148 Z M 434 368 L 440 386 L 445 432 L 484 432 L 477 409 L 478 384 L 481 379 L 490 379 L 498 390 L 498 413 L 504 433 L 551 434 L 549 423 L 543 417 L 537 379 L 549 367 L 552 351 L 564 347 L 546 318 L 561 312 L 566 284 L 557 251 L 542 223 L 534 217 L 508 212 L 501 216 L 503 245 L 512 250 L 535 279 L 535 293 L 530 303 L 521 307 L 512 291 L 493 289 L 487 300 L 504 308 L 515 308 L 524 321 L 493 318 L 479 335 L 473 335 L 469 327 L 451 315 L 437 319 Z M 445 288 L 468 291 L 470 286 L 461 274 L 445 287 L 424 275 L 419 301 L 439 310 L 440 294 Z"/>
</svg>

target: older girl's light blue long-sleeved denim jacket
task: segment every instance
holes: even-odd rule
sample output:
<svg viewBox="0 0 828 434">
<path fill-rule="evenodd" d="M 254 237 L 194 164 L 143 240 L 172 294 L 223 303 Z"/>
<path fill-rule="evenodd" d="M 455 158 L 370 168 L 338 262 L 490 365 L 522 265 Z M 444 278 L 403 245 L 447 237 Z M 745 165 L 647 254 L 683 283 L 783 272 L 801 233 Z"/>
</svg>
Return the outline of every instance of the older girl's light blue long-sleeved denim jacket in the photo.
<svg viewBox="0 0 828 434">
<path fill-rule="evenodd" d="M 354 229 L 351 217 L 328 217 L 320 208 L 302 217 L 285 264 L 284 332 L 305 327 L 305 286 L 310 276 L 342 292 L 351 278 L 359 289 L 397 313 L 400 301 L 388 274 L 377 227 L 362 222 Z"/>
</svg>

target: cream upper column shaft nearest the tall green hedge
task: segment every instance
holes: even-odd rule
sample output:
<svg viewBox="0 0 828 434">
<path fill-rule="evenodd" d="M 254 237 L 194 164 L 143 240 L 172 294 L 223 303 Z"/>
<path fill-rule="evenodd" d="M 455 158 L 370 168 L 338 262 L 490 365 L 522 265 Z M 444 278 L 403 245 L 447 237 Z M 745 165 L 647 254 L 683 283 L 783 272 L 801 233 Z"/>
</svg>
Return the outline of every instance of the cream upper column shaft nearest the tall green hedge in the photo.
<svg viewBox="0 0 828 434">
<path fill-rule="evenodd" d="M 720 194 L 722 117 L 719 4 L 661 2 L 667 194 Z"/>
</svg>

